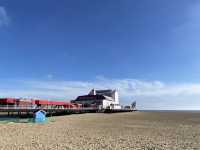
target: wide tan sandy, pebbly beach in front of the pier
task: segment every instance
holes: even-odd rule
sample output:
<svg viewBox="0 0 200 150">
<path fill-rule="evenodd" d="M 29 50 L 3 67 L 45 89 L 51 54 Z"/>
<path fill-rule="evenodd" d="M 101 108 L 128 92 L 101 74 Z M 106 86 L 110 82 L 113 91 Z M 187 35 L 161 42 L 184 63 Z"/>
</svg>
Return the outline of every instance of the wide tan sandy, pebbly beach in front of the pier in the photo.
<svg viewBox="0 0 200 150">
<path fill-rule="evenodd" d="M 0 123 L 0 149 L 200 149 L 200 113 L 75 114 L 50 120 Z"/>
</svg>

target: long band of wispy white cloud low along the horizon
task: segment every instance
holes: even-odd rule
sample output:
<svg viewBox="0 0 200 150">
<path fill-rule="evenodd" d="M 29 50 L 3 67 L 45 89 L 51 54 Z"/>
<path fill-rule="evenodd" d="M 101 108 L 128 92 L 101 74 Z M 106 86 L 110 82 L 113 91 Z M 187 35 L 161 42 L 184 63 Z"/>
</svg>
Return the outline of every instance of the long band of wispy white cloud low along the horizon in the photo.
<svg viewBox="0 0 200 150">
<path fill-rule="evenodd" d="M 10 90 L 1 86 L 0 95 L 71 100 L 92 88 L 112 88 L 119 90 L 122 103 L 137 100 L 140 109 L 200 109 L 200 83 L 98 78 L 94 81 L 18 81 L 17 84 L 20 87 Z"/>
</svg>

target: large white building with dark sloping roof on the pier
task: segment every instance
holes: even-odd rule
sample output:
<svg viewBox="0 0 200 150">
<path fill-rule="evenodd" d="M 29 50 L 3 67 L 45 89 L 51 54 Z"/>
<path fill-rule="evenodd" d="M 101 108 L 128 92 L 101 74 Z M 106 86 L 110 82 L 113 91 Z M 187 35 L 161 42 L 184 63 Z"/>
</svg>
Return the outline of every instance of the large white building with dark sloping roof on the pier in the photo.
<svg viewBox="0 0 200 150">
<path fill-rule="evenodd" d="M 116 90 L 92 89 L 88 95 L 78 96 L 74 101 L 83 104 L 84 107 L 97 107 L 99 109 L 121 109 L 119 96 Z"/>
</svg>

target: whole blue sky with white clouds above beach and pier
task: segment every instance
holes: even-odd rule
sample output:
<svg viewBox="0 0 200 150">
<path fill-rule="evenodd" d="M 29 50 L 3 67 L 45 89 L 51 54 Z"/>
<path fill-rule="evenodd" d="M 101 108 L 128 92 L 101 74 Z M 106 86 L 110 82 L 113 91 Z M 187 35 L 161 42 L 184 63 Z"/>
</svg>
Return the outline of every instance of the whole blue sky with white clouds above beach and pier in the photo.
<svg viewBox="0 0 200 150">
<path fill-rule="evenodd" d="M 199 0 L 0 0 L 0 97 L 200 109 L 199 58 Z"/>
</svg>

